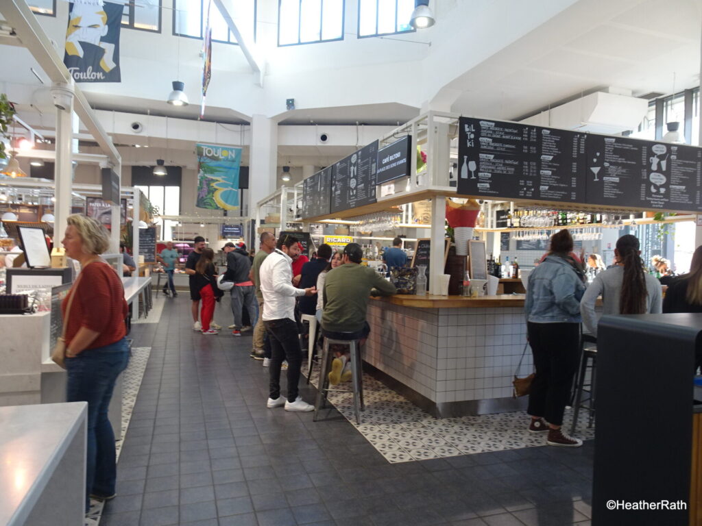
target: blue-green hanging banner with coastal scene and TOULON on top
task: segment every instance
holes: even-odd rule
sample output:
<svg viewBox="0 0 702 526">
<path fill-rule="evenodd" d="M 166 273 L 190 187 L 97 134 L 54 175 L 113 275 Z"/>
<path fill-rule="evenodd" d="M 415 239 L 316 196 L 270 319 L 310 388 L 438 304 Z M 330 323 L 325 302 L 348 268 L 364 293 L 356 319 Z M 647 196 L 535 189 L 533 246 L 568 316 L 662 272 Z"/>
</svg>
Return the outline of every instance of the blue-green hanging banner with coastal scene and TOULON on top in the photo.
<svg viewBox="0 0 702 526">
<path fill-rule="evenodd" d="M 197 144 L 197 208 L 239 210 L 241 148 Z"/>
</svg>

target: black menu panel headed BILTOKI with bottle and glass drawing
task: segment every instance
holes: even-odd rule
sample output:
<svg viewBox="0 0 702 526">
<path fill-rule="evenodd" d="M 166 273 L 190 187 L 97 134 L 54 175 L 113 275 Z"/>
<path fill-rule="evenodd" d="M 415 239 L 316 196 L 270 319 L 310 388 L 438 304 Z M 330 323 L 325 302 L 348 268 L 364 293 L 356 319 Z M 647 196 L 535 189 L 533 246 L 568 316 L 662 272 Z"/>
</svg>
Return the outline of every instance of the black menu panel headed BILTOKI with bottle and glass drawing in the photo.
<svg viewBox="0 0 702 526">
<path fill-rule="evenodd" d="M 461 117 L 458 193 L 583 203 L 585 135 Z"/>
</svg>

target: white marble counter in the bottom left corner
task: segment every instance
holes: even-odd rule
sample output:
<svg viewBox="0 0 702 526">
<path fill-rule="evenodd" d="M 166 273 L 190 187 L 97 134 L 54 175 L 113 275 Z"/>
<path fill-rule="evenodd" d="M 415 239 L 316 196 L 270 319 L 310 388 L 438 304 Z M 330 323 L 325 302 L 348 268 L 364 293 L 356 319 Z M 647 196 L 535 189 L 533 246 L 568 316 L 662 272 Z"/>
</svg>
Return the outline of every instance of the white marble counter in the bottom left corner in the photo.
<svg viewBox="0 0 702 526">
<path fill-rule="evenodd" d="M 83 523 L 87 407 L 0 407 L 0 525 Z"/>
</svg>

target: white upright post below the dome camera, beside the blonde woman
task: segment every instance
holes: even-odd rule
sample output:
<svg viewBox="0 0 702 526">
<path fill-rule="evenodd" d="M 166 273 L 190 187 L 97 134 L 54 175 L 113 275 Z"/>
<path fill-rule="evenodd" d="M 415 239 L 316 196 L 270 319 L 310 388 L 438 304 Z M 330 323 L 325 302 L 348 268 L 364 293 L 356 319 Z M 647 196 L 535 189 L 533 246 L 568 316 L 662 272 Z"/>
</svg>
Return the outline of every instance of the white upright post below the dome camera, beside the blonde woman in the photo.
<svg viewBox="0 0 702 526">
<path fill-rule="evenodd" d="M 66 229 L 66 219 L 71 214 L 73 81 L 69 84 L 55 83 L 51 92 L 52 95 L 54 93 L 60 95 L 61 101 L 61 107 L 56 107 L 56 164 L 54 167 L 56 202 L 53 208 L 55 217 L 53 243 L 55 247 L 60 247 L 63 232 Z"/>
</svg>

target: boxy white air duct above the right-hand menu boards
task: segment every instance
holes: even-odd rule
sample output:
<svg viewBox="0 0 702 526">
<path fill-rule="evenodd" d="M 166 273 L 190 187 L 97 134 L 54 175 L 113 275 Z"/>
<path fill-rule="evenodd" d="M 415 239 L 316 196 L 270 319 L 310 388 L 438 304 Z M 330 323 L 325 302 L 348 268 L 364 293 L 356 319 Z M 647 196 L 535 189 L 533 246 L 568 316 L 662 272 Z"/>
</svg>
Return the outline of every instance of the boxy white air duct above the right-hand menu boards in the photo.
<svg viewBox="0 0 702 526">
<path fill-rule="evenodd" d="M 636 130 L 648 112 L 649 101 L 597 91 L 519 121 L 566 130 L 617 134 Z"/>
</svg>

